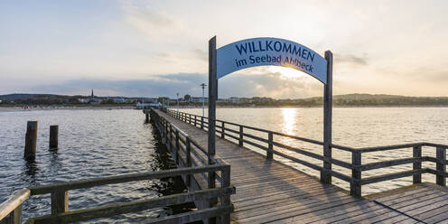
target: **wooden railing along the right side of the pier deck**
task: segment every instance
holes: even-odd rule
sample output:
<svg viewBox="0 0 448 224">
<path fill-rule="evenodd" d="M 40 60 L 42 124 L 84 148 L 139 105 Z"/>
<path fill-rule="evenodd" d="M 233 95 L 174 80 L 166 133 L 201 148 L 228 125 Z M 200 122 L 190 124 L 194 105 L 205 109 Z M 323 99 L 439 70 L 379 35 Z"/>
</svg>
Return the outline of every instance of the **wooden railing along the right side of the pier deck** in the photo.
<svg viewBox="0 0 448 224">
<path fill-rule="evenodd" d="M 172 117 L 176 117 L 183 122 L 186 122 L 192 126 L 200 127 L 201 129 L 208 129 L 208 117 L 201 117 L 197 115 L 187 114 L 184 112 L 178 112 L 175 110 L 166 110 L 166 113 L 171 115 Z M 250 130 L 252 134 L 245 132 L 246 130 Z M 253 135 L 253 132 L 258 133 L 259 135 Z M 313 139 L 308 139 L 300 136 L 294 135 L 286 135 L 283 133 L 266 130 L 262 128 L 257 128 L 253 126 L 244 126 L 235 124 L 228 121 L 216 120 L 216 133 L 221 138 L 230 138 L 237 141 L 238 145 L 243 146 L 244 144 L 255 146 L 258 149 L 266 151 L 266 159 L 273 159 L 273 155 L 278 155 L 285 159 L 294 161 L 295 163 L 303 164 L 313 170 L 319 171 L 321 173 L 330 174 L 331 176 L 341 179 L 342 181 L 350 183 L 350 194 L 360 196 L 361 195 L 361 186 L 376 182 L 385 182 L 389 180 L 394 180 L 398 178 L 413 176 L 413 183 L 422 182 L 422 174 L 430 173 L 435 175 L 435 182 L 438 185 L 445 186 L 446 185 L 446 177 L 448 177 L 448 173 L 446 172 L 446 165 L 448 161 L 446 160 L 446 149 L 448 145 L 437 145 L 432 143 L 415 143 L 415 144 L 405 144 L 405 145 L 387 145 L 387 146 L 379 146 L 379 147 L 365 147 L 365 148 L 352 148 L 342 145 L 331 145 L 332 149 L 338 149 L 341 151 L 345 151 L 351 154 L 351 163 L 347 163 L 330 156 L 323 156 L 322 154 L 315 154 L 310 151 L 303 150 L 298 147 L 294 147 L 291 145 L 285 145 L 274 140 L 275 136 L 282 136 L 285 138 L 290 138 L 294 140 L 299 140 L 305 143 L 313 144 L 313 145 L 322 145 L 323 142 L 316 141 Z M 265 135 L 262 137 L 260 135 Z M 257 141 L 258 143 L 256 143 Z M 426 146 L 432 148 L 435 156 L 422 156 L 422 148 Z M 310 163 L 306 160 L 296 158 L 289 154 L 284 154 L 276 148 L 285 149 L 288 151 L 292 151 L 296 154 L 302 154 L 307 157 L 320 160 L 322 162 L 331 163 L 337 166 L 340 166 L 345 169 L 349 169 L 351 171 L 351 176 L 346 175 L 344 173 L 340 173 L 337 171 L 330 169 L 325 169 L 323 166 L 316 165 L 314 163 Z M 412 157 L 408 158 L 400 158 L 395 160 L 387 160 L 377 163 L 362 163 L 362 155 L 369 154 L 372 152 L 387 152 L 390 150 L 398 150 L 398 149 L 410 149 L 413 152 Z M 435 169 L 432 168 L 423 168 L 423 162 L 432 162 L 435 163 Z M 403 164 L 413 164 L 412 170 L 407 170 L 403 172 L 396 173 L 387 173 L 381 175 L 375 175 L 368 178 L 362 178 L 362 172 L 387 168 L 396 165 Z M 330 166 L 331 167 L 331 166 Z"/>
</svg>

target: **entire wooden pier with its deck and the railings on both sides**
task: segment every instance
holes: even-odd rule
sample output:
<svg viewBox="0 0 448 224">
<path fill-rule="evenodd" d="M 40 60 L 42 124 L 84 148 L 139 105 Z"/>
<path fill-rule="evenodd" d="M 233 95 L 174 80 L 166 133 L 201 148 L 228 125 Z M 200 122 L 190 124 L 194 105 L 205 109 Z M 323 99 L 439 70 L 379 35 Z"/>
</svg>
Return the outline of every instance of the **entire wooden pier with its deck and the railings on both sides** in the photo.
<svg viewBox="0 0 448 224">
<path fill-rule="evenodd" d="M 148 219 L 146 223 L 197 220 L 204 223 L 448 223 L 448 189 L 445 187 L 448 145 L 415 143 L 368 148 L 330 145 L 332 149 L 349 152 L 352 161 L 348 163 L 332 158 L 331 153 L 317 154 L 281 144 L 275 137 L 323 146 L 320 141 L 216 119 L 216 154 L 209 154 L 207 117 L 164 108 L 145 109 L 144 113 L 150 115 L 177 169 L 30 186 L 0 204 L 0 223 L 22 223 L 23 201 L 40 194 L 51 194 L 51 214 L 27 219 L 26 223 L 70 223 L 190 201 L 196 204 L 197 210 Z M 266 154 L 259 154 L 247 145 Z M 361 161 L 362 154 L 403 148 L 412 150 L 413 156 L 377 163 Z M 286 154 L 285 150 L 320 160 L 322 166 Z M 434 156 L 422 156 L 422 150 L 432 150 Z M 279 157 L 319 171 L 325 180 L 275 160 Z M 435 169 L 423 167 L 424 162 L 435 163 Z M 412 170 L 362 177 L 364 171 L 400 164 L 413 164 Z M 348 169 L 351 176 L 332 170 L 332 165 Z M 422 183 L 422 174 L 434 175 L 435 183 Z M 188 192 L 70 210 L 71 190 L 173 176 L 182 177 Z M 361 197 L 365 184 L 407 176 L 413 177 L 411 186 Z M 331 178 L 349 182 L 350 191 L 332 185 Z"/>
</svg>

